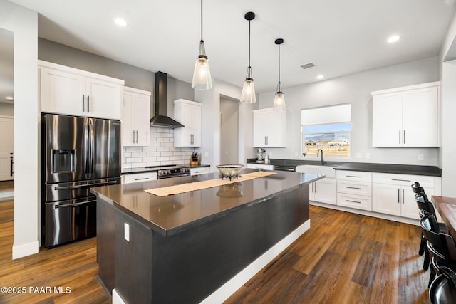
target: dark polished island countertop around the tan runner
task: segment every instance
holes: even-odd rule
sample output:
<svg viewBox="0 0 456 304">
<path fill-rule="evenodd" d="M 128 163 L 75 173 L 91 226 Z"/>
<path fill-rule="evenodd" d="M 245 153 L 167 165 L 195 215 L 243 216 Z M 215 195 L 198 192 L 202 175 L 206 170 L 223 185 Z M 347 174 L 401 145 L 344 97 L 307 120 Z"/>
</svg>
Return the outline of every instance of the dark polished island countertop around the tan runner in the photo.
<svg viewBox="0 0 456 304">
<path fill-rule="evenodd" d="M 241 174 L 255 171 L 257 170 L 243 169 Z M 162 236 L 171 236 L 224 216 L 231 211 L 259 204 L 271 196 L 296 189 L 301 184 L 310 184 L 324 178 L 321 174 L 280 171 L 276 173 L 236 184 L 163 197 L 143 190 L 218 179 L 219 173 L 95 187 L 91 188 L 90 192 Z"/>
</svg>

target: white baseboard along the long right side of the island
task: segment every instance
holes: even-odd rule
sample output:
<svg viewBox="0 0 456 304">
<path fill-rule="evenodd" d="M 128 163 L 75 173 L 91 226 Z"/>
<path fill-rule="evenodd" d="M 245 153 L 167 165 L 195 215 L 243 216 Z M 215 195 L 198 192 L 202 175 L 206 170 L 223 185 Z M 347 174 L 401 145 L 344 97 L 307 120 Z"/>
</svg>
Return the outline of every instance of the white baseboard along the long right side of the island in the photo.
<svg viewBox="0 0 456 304">
<path fill-rule="evenodd" d="M 224 283 L 222 287 L 215 290 L 214 293 L 209 295 L 207 298 L 202 300 L 202 304 L 210 304 L 210 303 L 222 303 L 224 300 L 227 300 L 233 293 L 235 293 L 239 288 L 242 287 L 247 281 L 249 281 L 255 274 L 261 271 L 264 266 L 266 266 L 269 262 L 274 260 L 276 256 L 284 251 L 288 246 L 291 245 L 296 239 L 299 238 L 304 232 L 308 231 L 311 228 L 311 220 L 307 220 L 299 226 L 297 229 L 291 232 L 288 236 L 284 239 L 276 243 L 272 248 L 268 251 L 263 253 L 259 258 L 255 261 L 250 263 L 249 266 L 244 268 L 242 271 L 237 273 L 236 276 L 231 278 L 227 283 Z"/>
</svg>

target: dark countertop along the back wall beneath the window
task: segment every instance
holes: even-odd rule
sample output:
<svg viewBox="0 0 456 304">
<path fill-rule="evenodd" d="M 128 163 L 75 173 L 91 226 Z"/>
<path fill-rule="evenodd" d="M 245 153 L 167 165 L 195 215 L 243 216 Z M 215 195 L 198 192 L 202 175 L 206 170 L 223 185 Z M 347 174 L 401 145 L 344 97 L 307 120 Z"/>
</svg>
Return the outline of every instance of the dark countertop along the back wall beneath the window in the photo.
<svg viewBox="0 0 456 304">
<path fill-rule="evenodd" d="M 259 164 L 257 159 L 247 159 L 247 163 Z M 268 164 L 300 166 L 303 164 L 320 165 L 318 160 L 271 159 Z M 376 164 L 369 162 L 326 162 L 326 166 L 333 166 L 336 170 L 426 175 L 441 177 L 442 169 L 435 166 L 417 166 L 412 164 Z"/>
</svg>

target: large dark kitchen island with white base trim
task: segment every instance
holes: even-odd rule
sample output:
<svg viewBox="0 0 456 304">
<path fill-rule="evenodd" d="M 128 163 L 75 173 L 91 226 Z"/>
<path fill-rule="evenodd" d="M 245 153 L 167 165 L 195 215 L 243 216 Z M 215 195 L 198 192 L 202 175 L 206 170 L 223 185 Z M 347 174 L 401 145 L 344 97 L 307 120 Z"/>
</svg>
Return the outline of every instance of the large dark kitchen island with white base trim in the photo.
<svg viewBox="0 0 456 304">
<path fill-rule="evenodd" d="M 100 283 L 125 303 L 221 302 L 310 228 L 324 175 L 274 173 L 162 197 L 144 190 L 219 174 L 91 189 Z"/>
</svg>

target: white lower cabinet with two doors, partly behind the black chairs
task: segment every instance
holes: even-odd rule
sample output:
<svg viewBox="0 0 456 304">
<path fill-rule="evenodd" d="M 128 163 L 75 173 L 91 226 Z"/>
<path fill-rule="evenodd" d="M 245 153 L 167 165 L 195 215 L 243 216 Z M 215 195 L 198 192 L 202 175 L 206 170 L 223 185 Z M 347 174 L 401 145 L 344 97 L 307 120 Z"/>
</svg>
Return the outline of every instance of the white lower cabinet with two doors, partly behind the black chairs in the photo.
<svg viewBox="0 0 456 304">
<path fill-rule="evenodd" d="M 435 177 L 405 174 L 373 174 L 373 211 L 410 219 L 420 219 L 415 194 L 410 187 L 419 182 L 430 196 L 435 194 Z"/>
</svg>

